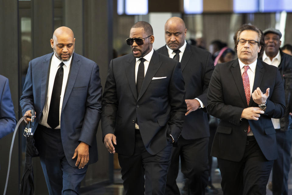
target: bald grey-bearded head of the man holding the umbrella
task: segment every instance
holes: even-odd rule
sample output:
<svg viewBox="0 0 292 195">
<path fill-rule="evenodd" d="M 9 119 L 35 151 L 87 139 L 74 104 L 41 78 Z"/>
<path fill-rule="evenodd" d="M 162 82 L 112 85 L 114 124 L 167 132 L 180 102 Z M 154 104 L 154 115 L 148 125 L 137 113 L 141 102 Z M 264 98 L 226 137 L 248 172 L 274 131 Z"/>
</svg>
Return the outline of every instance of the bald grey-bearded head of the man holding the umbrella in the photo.
<svg viewBox="0 0 292 195">
<path fill-rule="evenodd" d="M 59 27 L 54 31 L 50 43 L 55 56 L 62 62 L 68 61 L 75 48 L 74 33 L 68 27 Z"/>
</svg>

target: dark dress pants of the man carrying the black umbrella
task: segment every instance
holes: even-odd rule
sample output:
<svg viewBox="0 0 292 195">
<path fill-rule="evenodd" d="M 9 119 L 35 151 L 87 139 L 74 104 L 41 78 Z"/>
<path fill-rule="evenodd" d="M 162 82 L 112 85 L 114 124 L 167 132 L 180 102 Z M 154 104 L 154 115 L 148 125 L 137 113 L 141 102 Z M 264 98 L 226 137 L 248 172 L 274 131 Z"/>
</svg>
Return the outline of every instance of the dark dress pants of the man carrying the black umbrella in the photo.
<svg viewBox="0 0 292 195">
<path fill-rule="evenodd" d="M 81 169 L 69 165 L 64 154 L 60 129 L 49 129 L 39 124 L 34 139 L 49 194 L 79 194 L 88 165 Z"/>
</svg>

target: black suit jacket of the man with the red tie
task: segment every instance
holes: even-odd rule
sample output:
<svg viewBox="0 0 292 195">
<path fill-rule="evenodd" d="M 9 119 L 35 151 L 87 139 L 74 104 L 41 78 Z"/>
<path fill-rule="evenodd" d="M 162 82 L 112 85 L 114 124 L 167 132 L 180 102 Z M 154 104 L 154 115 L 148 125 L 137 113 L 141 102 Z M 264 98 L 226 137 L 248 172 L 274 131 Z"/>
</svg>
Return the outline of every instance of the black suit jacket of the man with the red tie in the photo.
<svg viewBox="0 0 292 195">
<path fill-rule="evenodd" d="M 238 59 L 216 65 L 208 90 L 207 111 L 220 120 L 211 155 L 240 161 L 245 152 L 248 125 L 267 160 L 278 157 L 276 131 L 271 118 L 279 119 L 285 111 L 285 94 L 281 75 L 275 66 L 257 61 L 252 91 L 259 87 L 269 97 L 265 114 L 255 120 L 240 120 L 247 107 L 258 107 L 252 98 L 247 105 Z"/>
</svg>

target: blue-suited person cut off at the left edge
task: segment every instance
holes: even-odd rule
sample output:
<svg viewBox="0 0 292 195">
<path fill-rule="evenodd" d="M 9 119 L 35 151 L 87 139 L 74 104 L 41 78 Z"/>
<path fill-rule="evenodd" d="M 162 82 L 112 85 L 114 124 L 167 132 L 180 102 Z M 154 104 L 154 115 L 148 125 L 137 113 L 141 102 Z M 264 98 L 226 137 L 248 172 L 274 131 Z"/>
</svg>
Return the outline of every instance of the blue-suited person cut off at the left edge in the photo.
<svg viewBox="0 0 292 195">
<path fill-rule="evenodd" d="M 0 75 L 0 139 L 13 132 L 16 125 L 8 79 Z"/>
</svg>

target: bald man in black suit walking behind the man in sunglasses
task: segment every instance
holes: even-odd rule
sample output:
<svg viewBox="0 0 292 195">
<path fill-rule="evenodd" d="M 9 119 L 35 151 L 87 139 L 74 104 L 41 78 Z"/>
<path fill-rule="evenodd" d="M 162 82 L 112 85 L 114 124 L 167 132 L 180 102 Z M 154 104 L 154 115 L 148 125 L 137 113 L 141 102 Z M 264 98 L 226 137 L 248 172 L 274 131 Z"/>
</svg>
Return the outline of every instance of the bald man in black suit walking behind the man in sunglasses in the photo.
<svg viewBox="0 0 292 195">
<path fill-rule="evenodd" d="M 166 45 L 157 50 L 158 53 L 181 62 L 187 104 L 182 136 L 172 148 L 165 193 L 180 194 L 176 185 L 180 156 L 182 173 L 189 179 L 190 194 L 205 194 L 210 136 L 205 106 L 214 63 L 210 52 L 187 44 L 185 37 L 184 21 L 179 17 L 172 17 L 165 23 Z"/>
</svg>

